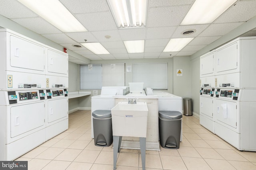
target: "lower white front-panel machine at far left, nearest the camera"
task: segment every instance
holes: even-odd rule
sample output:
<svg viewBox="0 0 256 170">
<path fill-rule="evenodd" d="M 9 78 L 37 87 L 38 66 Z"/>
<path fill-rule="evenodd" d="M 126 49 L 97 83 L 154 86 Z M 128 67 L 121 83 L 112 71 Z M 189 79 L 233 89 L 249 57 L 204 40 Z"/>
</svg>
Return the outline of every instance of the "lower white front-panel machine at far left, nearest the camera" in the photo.
<svg viewBox="0 0 256 170">
<path fill-rule="evenodd" d="M 14 160 L 46 141 L 44 90 L 0 91 L 0 160 Z"/>
</svg>

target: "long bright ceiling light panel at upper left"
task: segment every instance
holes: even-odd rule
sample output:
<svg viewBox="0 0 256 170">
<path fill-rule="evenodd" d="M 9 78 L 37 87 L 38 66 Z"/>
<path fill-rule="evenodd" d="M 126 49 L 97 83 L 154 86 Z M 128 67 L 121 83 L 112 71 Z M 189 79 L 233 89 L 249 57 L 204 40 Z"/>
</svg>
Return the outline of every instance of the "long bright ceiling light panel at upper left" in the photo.
<svg viewBox="0 0 256 170">
<path fill-rule="evenodd" d="M 18 1 L 65 33 L 87 31 L 59 0 Z"/>
</svg>

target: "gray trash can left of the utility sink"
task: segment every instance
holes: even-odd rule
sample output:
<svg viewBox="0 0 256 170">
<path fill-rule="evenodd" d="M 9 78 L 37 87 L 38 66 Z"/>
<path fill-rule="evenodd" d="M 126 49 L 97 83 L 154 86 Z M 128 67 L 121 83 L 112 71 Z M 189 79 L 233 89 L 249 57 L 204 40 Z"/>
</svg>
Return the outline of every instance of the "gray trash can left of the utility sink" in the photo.
<svg viewBox="0 0 256 170">
<path fill-rule="evenodd" d="M 112 116 L 110 110 L 92 112 L 94 145 L 109 147 L 113 143 Z"/>
</svg>

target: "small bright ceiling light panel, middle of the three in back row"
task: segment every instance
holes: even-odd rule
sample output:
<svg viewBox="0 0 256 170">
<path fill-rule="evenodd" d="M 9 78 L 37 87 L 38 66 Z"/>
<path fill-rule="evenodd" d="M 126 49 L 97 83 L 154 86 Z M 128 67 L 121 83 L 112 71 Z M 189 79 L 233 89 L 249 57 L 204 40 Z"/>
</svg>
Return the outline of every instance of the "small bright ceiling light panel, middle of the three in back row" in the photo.
<svg viewBox="0 0 256 170">
<path fill-rule="evenodd" d="M 145 40 L 124 41 L 128 53 L 143 53 Z"/>
</svg>

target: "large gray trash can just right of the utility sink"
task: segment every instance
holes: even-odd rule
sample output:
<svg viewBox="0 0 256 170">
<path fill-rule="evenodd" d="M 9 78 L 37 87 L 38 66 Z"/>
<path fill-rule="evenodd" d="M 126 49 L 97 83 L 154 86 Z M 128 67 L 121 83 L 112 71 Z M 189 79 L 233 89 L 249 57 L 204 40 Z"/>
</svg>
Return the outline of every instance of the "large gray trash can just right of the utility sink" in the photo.
<svg viewBox="0 0 256 170">
<path fill-rule="evenodd" d="M 182 113 L 158 111 L 160 145 L 166 149 L 180 148 Z"/>
</svg>

